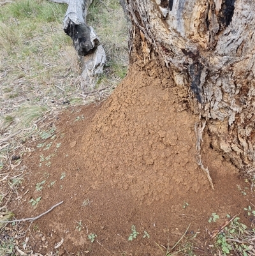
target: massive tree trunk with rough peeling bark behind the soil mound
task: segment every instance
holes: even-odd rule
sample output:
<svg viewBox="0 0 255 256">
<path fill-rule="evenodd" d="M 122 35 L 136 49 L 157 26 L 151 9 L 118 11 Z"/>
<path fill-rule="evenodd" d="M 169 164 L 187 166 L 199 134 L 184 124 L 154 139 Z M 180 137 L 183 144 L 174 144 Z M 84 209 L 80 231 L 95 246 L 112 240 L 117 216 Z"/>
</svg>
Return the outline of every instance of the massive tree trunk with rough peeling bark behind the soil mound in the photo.
<svg viewBox="0 0 255 256">
<path fill-rule="evenodd" d="M 255 1 L 128 0 L 126 10 L 131 62 L 159 58 L 211 146 L 255 176 Z"/>
</svg>

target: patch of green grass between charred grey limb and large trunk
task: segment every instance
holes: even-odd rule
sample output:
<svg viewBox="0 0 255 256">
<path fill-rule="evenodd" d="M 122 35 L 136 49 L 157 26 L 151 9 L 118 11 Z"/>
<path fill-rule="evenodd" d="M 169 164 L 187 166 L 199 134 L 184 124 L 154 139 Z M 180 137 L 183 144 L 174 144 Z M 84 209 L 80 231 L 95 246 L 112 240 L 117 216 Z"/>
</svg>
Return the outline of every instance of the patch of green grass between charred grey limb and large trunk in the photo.
<svg viewBox="0 0 255 256">
<path fill-rule="evenodd" d="M 93 1 L 89 8 L 87 24 L 94 27 L 98 34 L 113 73 L 120 79 L 125 77 L 129 61 L 128 22 L 119 1 Z M 119 70 L 122 72 L 119 73 Z"/>
</svg>

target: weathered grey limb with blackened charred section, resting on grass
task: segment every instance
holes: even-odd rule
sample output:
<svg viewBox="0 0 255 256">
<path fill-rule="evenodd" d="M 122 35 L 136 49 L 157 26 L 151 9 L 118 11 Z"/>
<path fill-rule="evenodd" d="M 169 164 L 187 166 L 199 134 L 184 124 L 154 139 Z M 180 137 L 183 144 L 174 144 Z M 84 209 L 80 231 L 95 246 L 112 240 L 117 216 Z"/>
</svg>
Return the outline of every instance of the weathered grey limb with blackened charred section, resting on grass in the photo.
<svg viewBox="0 0 255 256">
<path fill-rule="evenodd" d="M 68 9 L 64 17 L 64 32 L 73 40 L 73 46 L 82 58 L 81 89 L 92 89 L 99 73 L 103 73 L 106 56 L 94 29 L 86 24 L 87 10 L 92 0 L 51 0 L 66 3 Z"/>
</svg>

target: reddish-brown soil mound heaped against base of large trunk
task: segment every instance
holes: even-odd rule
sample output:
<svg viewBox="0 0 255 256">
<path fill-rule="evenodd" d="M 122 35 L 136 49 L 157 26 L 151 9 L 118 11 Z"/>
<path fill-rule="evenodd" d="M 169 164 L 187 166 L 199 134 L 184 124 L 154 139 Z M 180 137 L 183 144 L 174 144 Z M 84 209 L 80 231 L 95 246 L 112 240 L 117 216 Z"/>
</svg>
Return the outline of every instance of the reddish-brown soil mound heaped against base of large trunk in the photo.
<svg viewBox="0 0 255 256">
<path fill-rule="evenodd" d="M 184 107 L 180 95 L 186 92 L 168 78 L 155 63 L 146 69 L 134 64 L 104 103 L 64 110 L 54 123 L 57 136 L 46 141 L 52 142 L 49 149 L 45 144 L 23 156 L 29 182 L 22 184 L 16 218 L 64 201 L 33 222 L 34 252 L 55 252 L 64 238 L 60 255 L 163 255 L 161 245 L 173 246 L 190 224 L 187 235 L 198 232 L 196 255 L 211 255 L 206 230 L 219 227 L 226 214 L 240 213 L 249 225 L 242 209 L 254 195 L 238 190 L 247 183 L 210 147 L 205 133 L 202 159 L 215 190 L 210 188 L 196 164 L 198 116 Z M 29 200 L 38 197 L 34 208 Z M 208 223 L 212 213 L 221 217 L 216 223 Z M 128 241 L 132 225 L 139 234 Z M 96 234 L 94 243 L 89 234 Z"/>
</svg>

